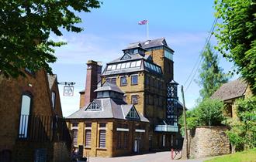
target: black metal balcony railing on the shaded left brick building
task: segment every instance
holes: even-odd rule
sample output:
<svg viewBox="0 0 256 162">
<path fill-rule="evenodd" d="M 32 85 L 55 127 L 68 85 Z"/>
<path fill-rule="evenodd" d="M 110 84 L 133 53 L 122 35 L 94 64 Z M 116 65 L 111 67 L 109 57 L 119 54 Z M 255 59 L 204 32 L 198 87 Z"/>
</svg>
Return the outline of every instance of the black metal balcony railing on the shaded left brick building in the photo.
<svg viewBox="0 0 256 162">
<path fill-rule="evenodd" d="M 71 148 L 71 136 L 65 120 L 57 116 L 21 115 L 17 140 L 65 142 Z"/>
</svg>

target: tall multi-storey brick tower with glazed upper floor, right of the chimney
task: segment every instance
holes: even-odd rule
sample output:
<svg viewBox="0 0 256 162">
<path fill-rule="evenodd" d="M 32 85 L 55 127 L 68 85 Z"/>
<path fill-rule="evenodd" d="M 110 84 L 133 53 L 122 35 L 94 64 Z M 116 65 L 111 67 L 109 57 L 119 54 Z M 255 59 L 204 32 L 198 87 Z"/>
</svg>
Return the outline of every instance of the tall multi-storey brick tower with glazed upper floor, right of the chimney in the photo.
<svg viewBox="0 0 256 162">
<path fill-rule="evenodd" d="M 150 120 L 151 149 L 182 146 L 178 129 L 182 105 L 173 76 L 173 54 L 164 38 L 130 43 L 102 73 L 102 83 L 119 86 L 126 103 L 135 104 Z"/>
</svg>

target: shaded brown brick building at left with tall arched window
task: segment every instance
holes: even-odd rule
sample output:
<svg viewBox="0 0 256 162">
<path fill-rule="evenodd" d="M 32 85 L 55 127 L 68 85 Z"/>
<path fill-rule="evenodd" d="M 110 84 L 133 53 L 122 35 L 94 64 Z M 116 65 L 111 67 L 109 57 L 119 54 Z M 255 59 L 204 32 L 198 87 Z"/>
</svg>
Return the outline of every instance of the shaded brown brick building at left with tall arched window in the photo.
<svg viewBox="0 0 256 162">
<path fill-rule="evenodd" d="M 62 120 L 57 76 L 0 74 L 0 161 L 67 161 L 71 137 Z"/>
</svg>

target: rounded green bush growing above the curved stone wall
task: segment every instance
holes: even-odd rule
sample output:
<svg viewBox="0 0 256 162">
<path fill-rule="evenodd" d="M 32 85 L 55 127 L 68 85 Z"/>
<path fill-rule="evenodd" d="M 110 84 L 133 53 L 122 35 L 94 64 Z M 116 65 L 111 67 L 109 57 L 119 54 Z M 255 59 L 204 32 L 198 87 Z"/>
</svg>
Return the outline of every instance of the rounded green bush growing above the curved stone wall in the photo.
<svg viewBox="0 0 256 162">
<path fill-rule="evenodd" d="M 186 111 L 186 122 L 189 130 L 197 126 L 219 126 L 223 120 L 223 101 L 206 99 L 199 103 L 192 110 Z M 182 126 L 182 135 L 184 135 L 184 116 L 182 115 L 178 123 Z"/>
</svg>

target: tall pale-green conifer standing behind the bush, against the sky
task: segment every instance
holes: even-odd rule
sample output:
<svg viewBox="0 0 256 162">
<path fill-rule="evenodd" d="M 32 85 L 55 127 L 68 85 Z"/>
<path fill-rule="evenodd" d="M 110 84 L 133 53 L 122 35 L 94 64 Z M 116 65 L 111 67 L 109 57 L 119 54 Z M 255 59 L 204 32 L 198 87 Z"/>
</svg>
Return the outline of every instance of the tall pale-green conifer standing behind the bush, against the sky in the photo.
<svg viewBox="0 0 256 162">
<path fill-rule="evenodd" d="M 223 73 L 218 64 L 218 56 L 214 54 L 213 48 L 207 44 L 206 50 L 202 52 L 202 65 L 199 69 L 199 80 L 196 82 L 200 89 L 200 96 L 202 100 L 209 98 L 223 83 L 227 83 L 227 74 Z"/>
</svg>

